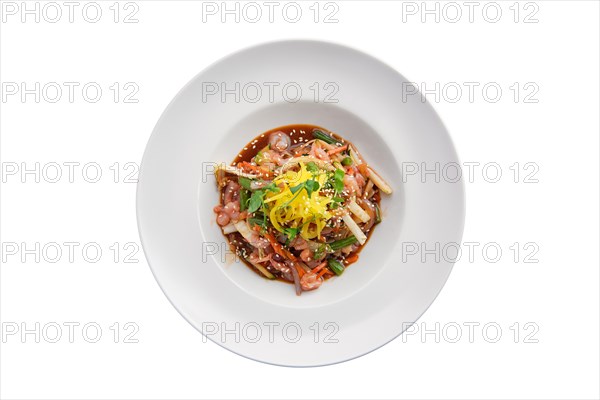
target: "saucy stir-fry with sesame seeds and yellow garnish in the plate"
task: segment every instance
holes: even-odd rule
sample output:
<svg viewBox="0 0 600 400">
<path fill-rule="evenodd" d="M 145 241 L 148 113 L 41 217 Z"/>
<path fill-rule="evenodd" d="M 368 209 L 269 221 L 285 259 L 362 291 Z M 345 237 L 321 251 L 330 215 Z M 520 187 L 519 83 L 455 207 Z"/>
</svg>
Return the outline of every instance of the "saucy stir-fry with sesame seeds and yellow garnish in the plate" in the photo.
<svg viewBox="0 0 600 400">
<path fill-rule="evenodd" d="M 297 295 L 358 260 L 381 222 L 381 193 L 392 193 L 352 143 L 313 125 L 258 136 L 215 176 L 216 221 L 232 250 Z"/>
</svg>

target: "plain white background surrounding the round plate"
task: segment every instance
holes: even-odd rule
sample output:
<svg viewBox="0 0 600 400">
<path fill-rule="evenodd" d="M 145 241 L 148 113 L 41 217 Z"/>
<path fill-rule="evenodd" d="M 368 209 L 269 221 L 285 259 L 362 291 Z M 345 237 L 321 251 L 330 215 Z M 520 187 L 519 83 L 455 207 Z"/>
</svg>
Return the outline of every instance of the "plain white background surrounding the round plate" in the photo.
<svg viewBox="0 0 600 400">
<path fill-rule="evenodd" d="M 6 7 L 3 2 L 3 11 Z M 300 2 L 298 23 L 287 22 L 280 7 L 270 23 L 239 23 L 229 16 L 207 16 L 201 2 L 137 1 L 138 23 L 114 23 L 110 2 L 100 2 L 102 17 L 86 22 L 80 3 L 74 22 L 68 9 L 61 21 L 33 15 L 21 22 L 3 13 L 0 73 L 6 82 L 32 88 L 48 82 L 78 82 L 75 99 L 67 92 L 57 103 L 39 103 L 20 93 L 2 100 L 1 156 L 7 172 L 21 163 L 78 162 L 74 182 L 63 176 L 50 183 L 42 176 L 3 177 L 2 242 L 33 248 L 50 242 L 96 242 L 100 261 L 87 262 L 81 246 L 74 262 L 3 252 L 1 268 L 0 396 L 2 398 L 598 398 L 599 393 L 599 4 L 595 1 L 539 1 L 513 6 L 499 2 L 502 16 L 486 21 L 480 3 L 469 22 L 468 8 L 451 23 L 454 10 L 436 22 L 434 15 L 403 14 L 402 2 L 337 2 L 337 23 L 313 21 L 313 2 Z M 567 4 L 568 3 L 568 4 Z M 21 3 L 13 3 L 22 7 Z M 34 2 L 28 3 L 31 8 Z M 39 3 L 43 7 L 45 3 Z M 216 3 L 220 7 L 220 2 Z M 229 3 L 233 7 L 233 3 Z M 264 13 L 267 8 L 259 3 Z M 419 9 L 420 2 L 412 3 Z M 438 3 L 440 13 L 446 3 Z M 428 7 L 435 7 L 429 2 Z M 513 7 L 512 9 L 510 7 Z M 514 22 L 514 9 L 520 10 Z M 331 11 L 334 8 L 329 8 Z M 50 12 L 51 10 L 48 10 Z M 127 11 L 127 12 L 126 12 Z M 535 11 L 525 23 L 526 15 Z M 494 17 L 488 9 L 488 17 Z M 90 11 L 91 13 L 91 11 Z M 90 14 L 93 16 L 93 14 Z M 54 16 L 54 11 L 50 18 Z M 404 20 L 403 20 L 404 18 Z M 502 177 L 489 183 L 476 170 L 467 183 L 465 242 L 497 243 L 498 262 L 459 261 L 445 288 L 417 325 L 454 331 L 400 337 L 357 360 L 317 369 L 260 364 L 202 341 L 202 336 L 169 304 L 146 264 L 125 263 L 128 242 L 139 243 L 135 219 L 135 183 L 125 183 L 127 162 L 139 163 L 161 112 L 178 90 L 215 60 L 256 43 L 286 38 L 326 39 L 366 51 L 408 79 L 432 89 L 456 82 L 477 82 L 470 102 L 463 97 L 428 95 L 447 125 L 463 162 L 498 163 Z M 298 60 L 307 62 L 307 60 Z M 318 60 L 315 60 L 318 62 Z M 97 82 L 102 98 L 89 103 L 81 86 Z M 139 87 L 137 103 L 118 102 L 114 82 Z M 503 90 L 493 103 L 481 87 Z M 510 87 L 521 88 L 517 101 Z M 523 85 L 529 90 L 524 90 Z M 525 102 L 531 88 L 539 91 Z M 3 89 L 6 87 L 3 87 Z M 490 92 L 492 93 L 492 92 Z M 6 95 L 3 90 L 3 94 Z M 81 166 L 102 168 L 98 183 L 82 178 Z M 118 183 L 114 169 L 120 163 Z M 538 183 L 514 182 L 515 162 L 535 163 Z M 16 164 L 14 164 L 16 163 Z M 48 170 L 49 172 L 49 170 Z M 63 174 L 68 172 L 63 167 Z M 88 171 L 91 174 L 91 171 Z M 54 173 L 52 173 L 52 177 Z M 93 176 L 92 176 L 93 177 Z M 135 178 L 135 176 L 134 176 Z M 487 177 L 489 178 L 489 177 Z M 25 180 L 25 182 L 22 182 Z M 109 247 L 118 242 L 118 262 Z M 509 249 L 518 242 L 517 262 Z M 525 243 L 534 247 L 523 249 Z M 531 249 L 539 248 L 525 262 Z M 6 250 L 5 247 L 3 247 Z M 64 249 L 64 248 L 63 248 Z M 11 252 L 9 252 L 11 253 Z M 490 253 L 491 254 L 491 253 Z M 32 329 L 39 322 L 63 326 L 63 337 L 50 343 L 34 334 L 9 335 L 14 326 Z M 69 342 L 65 322 L 81 324 Z M 102 328 L 88 343 L 81 327 Z M 114 323 L 120 336 L 114 342 Z M 139 327 L 138 343 L 125 343 L 124 324 Z M 479 323 L 469 340 L 465 323 Z M 525 329 L 525 324 L 530 322 Z M 502 336 L 491 343 L 497 324 Z M 518 323 L 518 328 L 515 323 Z M 448 325 L 451 324 L 451 325 Z M 512 327 L 512 329 L 511 329 Z M 40 328 L 41 329 L 41 328 Z M 50 328 L 48 328 L 50 329 Z M 377 329 L 377 327 L 373 327 Z M 49 333 L 50 332 L 50 333 Z M 54 331 L 48 335 L 54 336 Z M 451 334 L 449 333 L 451 332 Z M 519 337 L 515 337 L 519 332 Z M 369 332 L 366 331 L 365 335 Z M 527 339 L 527 334 L 532 334 Z M 93 336 L 93 332 L 90 331 Z M 516 342 L 516 343 L 515 343 Z"/>
</svg>

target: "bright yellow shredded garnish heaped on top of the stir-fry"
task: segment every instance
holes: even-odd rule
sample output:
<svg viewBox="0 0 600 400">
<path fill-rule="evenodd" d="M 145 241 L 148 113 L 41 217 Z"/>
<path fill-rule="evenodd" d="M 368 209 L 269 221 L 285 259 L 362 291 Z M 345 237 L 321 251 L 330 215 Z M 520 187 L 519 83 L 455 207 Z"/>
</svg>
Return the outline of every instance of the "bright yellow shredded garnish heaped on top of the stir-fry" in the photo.
<svg viewBox="0 0 600 400">
<path fill-rule="evenodd" d="M 319 171 L 316 176 L 306 169 L 304 163 L 299 163 L 299 171 L 287 171 L 273 180 L 281 191 L 278 193 L 268 192 L 265 205 L 269 210 L 271 223 L 279 232 L 284 228 L 300 228 L 300 236 L 304 239 L 314 239 L 321 235 L 327 220 L 332 217 L 327 210 L 327 205 L 332 202 L 328 196 L 315 191 L 310 198 L 306 190 L 292 193 L 292 187 L 303 184 L 309 179 L 319 182 L 323 188 L 327 176 Z"/>
</svg>

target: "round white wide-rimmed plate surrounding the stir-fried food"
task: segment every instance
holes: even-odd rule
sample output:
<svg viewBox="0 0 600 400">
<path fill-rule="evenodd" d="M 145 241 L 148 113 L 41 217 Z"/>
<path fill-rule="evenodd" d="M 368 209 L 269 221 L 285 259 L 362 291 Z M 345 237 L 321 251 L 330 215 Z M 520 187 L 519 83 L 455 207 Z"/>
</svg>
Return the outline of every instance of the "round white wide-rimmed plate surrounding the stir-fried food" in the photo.
<svg viewBox="0 0 600 400">
<path fill-rule="evenodd" d="M 403 254 L 403 242 L 429 249 L 460 243 L 464 188 L 462 181 L 437 183 L 432 175 L 424 182 L 406 175 L 403 182 L 406 163 L 458 163 L 432 107 L 420 95 L 402 95 L 406 82 L 351 48 L 283 41 L 230 55 L 177 94 L 144 154 L 137 216 L 152 272 L 186 320 L 239 355 L 315 366 L 368 353 L 425 312 L 452 263 Z M 298 88 L 300 100 L 293 102 Z M 384 196 L 383 222 L 360 260 L 300 297 L 292 285 L 261 279 L 226 254 L 209 173 L 212 162 L 231 162 L 256 135 L 295 123 L 320 125 L 354 142 L 395 190 Z"/>
</svg>

